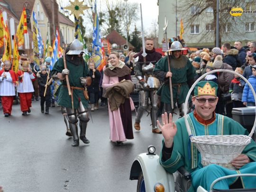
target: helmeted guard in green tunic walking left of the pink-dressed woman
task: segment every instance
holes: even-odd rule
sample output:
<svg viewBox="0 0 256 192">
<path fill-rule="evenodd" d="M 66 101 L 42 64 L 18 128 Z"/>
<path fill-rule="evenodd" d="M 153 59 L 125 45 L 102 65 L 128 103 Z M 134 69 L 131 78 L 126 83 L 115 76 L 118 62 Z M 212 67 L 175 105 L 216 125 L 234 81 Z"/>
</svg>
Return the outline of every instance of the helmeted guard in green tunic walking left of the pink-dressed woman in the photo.
<svg viewBox="0 0 256 192">
<path fill-rule="evenodd" d="M 79 139 L 84 143 L 90 143 L 85 136 L 87 123 L 90 120 L 85 88 L 89 84 L 90 78 L 86 78 L 88 67 L 82 58 L 83 53 L 85 52 L 82 43 L 75 39 L 70 45 L 70 50 L 65 54 L 67 68 L 64 68 L 64 58 L 59 58 L 51 72 L 55 81 L 62 82 L 58 93 L 58 105 L 66 109 L 69 127 L 73 135 L 72 146 L 78 146 Z M 66 75 L 68 75 L 70 83 L 71 97 L 68 95 Z M 80 136 L 78 136 L 77 117 L 79 118 Z"/>
</svg>

